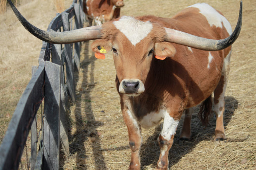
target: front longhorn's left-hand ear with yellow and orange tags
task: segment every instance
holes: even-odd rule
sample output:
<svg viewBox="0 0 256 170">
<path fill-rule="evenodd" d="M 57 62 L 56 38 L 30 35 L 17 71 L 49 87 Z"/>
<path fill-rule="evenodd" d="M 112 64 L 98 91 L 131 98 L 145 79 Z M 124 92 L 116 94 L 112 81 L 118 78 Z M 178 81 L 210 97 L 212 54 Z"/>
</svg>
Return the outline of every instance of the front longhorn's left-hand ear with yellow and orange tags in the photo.
<svg viewBox="0 0 256 170">
<path fill-rule="evenodd" d="M 112 44 L 110 41 L 106 41 L 104 39 L 97 39 L 92 43 L 91 47 L 92 47 L 92 51 L 95 52 L 96 58 L 104 59 L 105 58 L 104 53 L 107 53 L 112 49 Z"/>
</svg>

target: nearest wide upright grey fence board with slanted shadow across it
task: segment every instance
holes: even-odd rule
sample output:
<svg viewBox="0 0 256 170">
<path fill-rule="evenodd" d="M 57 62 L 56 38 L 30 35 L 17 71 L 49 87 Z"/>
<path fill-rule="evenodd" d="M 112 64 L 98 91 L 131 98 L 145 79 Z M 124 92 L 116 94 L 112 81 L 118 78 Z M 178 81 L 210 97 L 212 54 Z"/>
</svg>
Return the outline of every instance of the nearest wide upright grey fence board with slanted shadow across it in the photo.
<svg viewBox="0 0 256 170">
<path fill-rule="evenodd" d="M 59 169 L 61 66 L 45 61 L 43 169 Z"/>
</svg>

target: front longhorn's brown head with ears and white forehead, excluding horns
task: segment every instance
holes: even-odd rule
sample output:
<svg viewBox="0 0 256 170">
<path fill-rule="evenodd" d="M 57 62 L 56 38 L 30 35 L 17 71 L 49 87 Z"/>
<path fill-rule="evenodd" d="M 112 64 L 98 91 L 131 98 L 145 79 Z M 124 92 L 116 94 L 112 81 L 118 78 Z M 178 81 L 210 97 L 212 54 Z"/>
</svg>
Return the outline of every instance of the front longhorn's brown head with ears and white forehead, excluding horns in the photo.
<svg viewBox="0 0 256 170">
<path fill-rule="evenodd" d="M 102 30 L 104 39 L 94 41 L 92 49 L 96 53 L 99 53 L 102 47 L 106 51 L 112 50 L 120 82 L 119 92 L 132 96 L 140 95 L 145 90 L 144 83 L 153 56 L 164 59 L 173 56 L 176 50 L 171 43 L 161 42 L 165 32 L 163 29 L 154 28 L 149 21 L 122 17 L 106 25 Z M 107 36 L 104 36 L 105 30 L 108 30 Z"/>
</svg>

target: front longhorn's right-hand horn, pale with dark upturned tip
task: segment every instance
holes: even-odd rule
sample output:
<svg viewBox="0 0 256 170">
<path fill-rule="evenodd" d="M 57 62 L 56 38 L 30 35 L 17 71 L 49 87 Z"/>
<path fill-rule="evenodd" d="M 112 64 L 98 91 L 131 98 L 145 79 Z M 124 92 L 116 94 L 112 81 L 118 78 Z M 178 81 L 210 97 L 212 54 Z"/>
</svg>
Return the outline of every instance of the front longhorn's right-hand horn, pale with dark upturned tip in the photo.
<svg viewBox="0 0 256 170">
<path fill-rule="evenodd" d="M 166 38 L 164 41 L 173 42 L 176 44 L 182 44 L 192 48 L 202 49 L 206 51 L 217 51 L 227 48 L 239 36 L 242 27 L 242 1 L 240 2 L 239 18 L 237 21 L 237 26 L 234 32 L 225 39 L 215 40 L 207 39 L 198 36 L 194 36 L 185 32 L 177 31 L 170 28 L 165 28 Z"/>
</svg>

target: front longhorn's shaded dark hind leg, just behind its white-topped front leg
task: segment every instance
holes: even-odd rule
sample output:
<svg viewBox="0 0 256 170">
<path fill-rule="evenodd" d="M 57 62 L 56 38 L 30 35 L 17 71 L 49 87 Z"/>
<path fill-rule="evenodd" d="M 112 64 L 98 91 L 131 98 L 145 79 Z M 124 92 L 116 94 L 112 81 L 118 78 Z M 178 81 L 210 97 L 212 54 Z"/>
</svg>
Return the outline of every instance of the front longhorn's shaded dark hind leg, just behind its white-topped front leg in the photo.
<svg viewBox="0 0 256 170">
<path fill-rule="evenodd" d="M 185 118 L 183 123 L 182 132 L 180 133 L 180 143 L 188 141 L 191 136 L 191 117 L 194 112 L 194 107 L 185 110 Z"/>
</svg>

